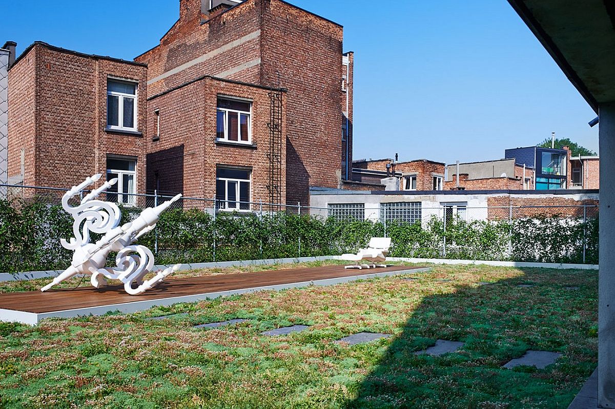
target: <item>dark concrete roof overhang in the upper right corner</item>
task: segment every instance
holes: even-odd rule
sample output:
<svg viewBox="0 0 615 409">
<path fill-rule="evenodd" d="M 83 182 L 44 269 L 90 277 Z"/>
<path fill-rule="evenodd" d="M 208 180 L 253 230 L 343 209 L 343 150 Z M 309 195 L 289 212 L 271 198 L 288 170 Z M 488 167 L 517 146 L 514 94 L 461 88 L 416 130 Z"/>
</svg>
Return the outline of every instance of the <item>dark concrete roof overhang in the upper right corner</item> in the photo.
<svg viewBox="0 0 615 409">
<path fill-rule="evenodd" d="M 596 113 L 615 101 L 615 1 L 508 1 Z"/>
</svg>

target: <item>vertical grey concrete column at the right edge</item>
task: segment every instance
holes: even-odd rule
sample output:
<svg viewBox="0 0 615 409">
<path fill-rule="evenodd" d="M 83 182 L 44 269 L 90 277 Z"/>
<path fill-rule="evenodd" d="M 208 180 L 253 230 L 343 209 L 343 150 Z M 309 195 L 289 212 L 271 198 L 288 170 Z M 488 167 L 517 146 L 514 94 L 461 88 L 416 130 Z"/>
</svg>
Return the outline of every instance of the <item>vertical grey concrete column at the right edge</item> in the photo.
<svg viewBox="0 0 615 409">
<path fill-rule="evenodd" d="M 615 102 L 600 104 L 598 407 L 615 408 Z"/>
</svg>

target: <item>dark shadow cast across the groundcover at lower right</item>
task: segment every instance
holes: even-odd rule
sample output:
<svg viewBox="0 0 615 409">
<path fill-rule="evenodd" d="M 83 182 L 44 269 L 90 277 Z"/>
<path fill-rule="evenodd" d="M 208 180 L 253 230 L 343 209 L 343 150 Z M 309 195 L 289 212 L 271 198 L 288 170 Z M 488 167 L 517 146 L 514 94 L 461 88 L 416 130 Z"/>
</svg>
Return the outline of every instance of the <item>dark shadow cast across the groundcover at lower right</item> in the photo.
<svg viewBox="0 0 615 409">
<path fill-rule="evenodd" d="M 567 408 L 597 362 L 597 272 L 522 271 L 461 286 L 400 279 L 408 291 L 424 280 L 454 290 L 421 301 L 347 407 Z M 438 339 L 465 344 L 441 356 L 415 354 Z M 544 369 L 502 367 L 527 350 L 563 355 Z"/>
</svg>

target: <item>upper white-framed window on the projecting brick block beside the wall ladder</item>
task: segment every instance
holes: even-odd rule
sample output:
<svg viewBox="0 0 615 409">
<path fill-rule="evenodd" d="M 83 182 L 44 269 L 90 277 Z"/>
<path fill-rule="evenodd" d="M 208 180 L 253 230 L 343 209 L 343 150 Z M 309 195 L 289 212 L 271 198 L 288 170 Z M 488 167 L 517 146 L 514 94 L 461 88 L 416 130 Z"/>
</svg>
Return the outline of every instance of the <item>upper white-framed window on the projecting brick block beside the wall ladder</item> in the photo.
<svg viewBox="0 0 615 409">
<path fill-rule="evenodd" d="M 218 98 L 216 140 L 237 143 L 252 142 L 252 103 Z"/>
</svg>

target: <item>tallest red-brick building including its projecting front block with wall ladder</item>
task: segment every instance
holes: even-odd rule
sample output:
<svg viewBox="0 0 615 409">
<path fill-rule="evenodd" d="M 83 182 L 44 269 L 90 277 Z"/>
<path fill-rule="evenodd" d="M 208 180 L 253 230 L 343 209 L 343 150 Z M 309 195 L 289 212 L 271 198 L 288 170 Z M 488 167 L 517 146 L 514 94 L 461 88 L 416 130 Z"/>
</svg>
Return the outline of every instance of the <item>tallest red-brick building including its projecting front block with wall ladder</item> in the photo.
<svg viewBox="0 0 615 409">
<path fill-rule="evenodd" d="M 148 65 L 148 124 L 161 127 L 148 189 L 296 204 L 309 186 L 337 188 L 352 162 L 354 58 L 342 41 L 342 26 L 282 0 L 181 0 L 177 23 L 136 58 Z"/>
</svg>

